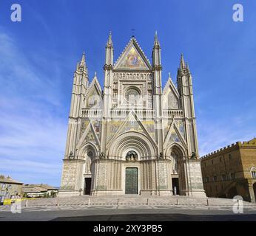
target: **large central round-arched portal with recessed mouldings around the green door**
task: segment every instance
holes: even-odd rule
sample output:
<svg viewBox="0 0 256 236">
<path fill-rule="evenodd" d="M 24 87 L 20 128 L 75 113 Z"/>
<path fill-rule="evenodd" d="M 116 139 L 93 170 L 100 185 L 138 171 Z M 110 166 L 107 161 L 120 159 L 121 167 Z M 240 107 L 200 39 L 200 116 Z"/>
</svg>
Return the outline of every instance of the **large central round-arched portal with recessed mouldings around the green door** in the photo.
<svg viewBox="0 0 256 236">
<path fill-rule="evenodd" d="M 119 135 L 108 149 L 108 156 L 121 161 L 121 190 L 124 194 L 141 194 L 155 186 L 156 147 L 155 144 L 143 133 L 127 132 Z M 113 163 L 115 165 L 115 163 Z"/>
</svg>

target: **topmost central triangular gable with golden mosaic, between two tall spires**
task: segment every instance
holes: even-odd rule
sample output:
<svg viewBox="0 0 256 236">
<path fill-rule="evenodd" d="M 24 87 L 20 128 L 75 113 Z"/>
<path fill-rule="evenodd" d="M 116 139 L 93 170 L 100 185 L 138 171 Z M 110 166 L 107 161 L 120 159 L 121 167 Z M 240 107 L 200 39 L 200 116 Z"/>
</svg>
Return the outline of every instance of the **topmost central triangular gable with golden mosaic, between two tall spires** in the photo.
<svg viewBox="0 0 256 236">
<path fill-rule="evenodd" d="M 129 41 L 129 44 L 122 52 L 115 63 L 114 69 L 120 70 L 150 70 L 151 65 L 146 59 L 141 47 L 138 46 L 135 38 Z"/>
</svg>

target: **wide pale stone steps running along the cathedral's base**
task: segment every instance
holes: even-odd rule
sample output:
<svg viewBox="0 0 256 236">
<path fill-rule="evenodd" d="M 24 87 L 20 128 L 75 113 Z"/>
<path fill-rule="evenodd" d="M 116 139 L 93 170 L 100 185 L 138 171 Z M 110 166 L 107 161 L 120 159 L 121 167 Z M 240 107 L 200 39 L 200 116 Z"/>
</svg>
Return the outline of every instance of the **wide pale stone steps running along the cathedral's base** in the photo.
<svg viewBox="0 0 256 236">
<path fill-rule="evenodd" d="M 234 206 L 233 199 L 226 198 L 192 198 L 186 196 L 104 196 L 89 195 L 66 198 L 38 198 L 27 201 L 27 206 L 108 206 L 108 205 L 184 205 L 184 206 Z M 22 201 L 21 206 L 26 206 Z M 243 201 L 244 207 L 256 209 L 256 204 Z"/>
</svg>

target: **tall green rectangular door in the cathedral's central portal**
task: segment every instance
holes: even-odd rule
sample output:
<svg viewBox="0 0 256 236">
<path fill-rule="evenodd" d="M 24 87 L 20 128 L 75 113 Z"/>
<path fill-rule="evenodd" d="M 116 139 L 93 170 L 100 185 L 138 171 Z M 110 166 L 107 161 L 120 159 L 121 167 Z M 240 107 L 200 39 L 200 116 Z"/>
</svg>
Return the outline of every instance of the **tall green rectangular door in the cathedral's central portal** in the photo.
<svg viewBox="0 0 256 236">
<path fill-rule="evenodd" d="M 126 168 L 125 194 L 138 194 L 138 168 Z"/>
</svg>

